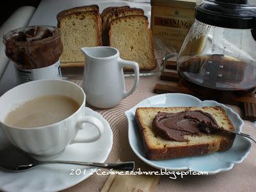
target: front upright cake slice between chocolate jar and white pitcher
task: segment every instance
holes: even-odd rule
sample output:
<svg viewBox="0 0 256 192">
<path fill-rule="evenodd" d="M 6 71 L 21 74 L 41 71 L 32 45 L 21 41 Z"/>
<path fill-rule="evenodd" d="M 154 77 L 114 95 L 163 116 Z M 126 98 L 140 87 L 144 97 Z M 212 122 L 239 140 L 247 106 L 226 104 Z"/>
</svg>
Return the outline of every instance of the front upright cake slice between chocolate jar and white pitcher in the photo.
<svg viewBox="0 0 256 192">
<path fill-rule="evenodd" d="M 63 42 L 63 53 L 60 57 L 61 67 L 83 67 L 84 56 L 81 47 L 102 45 L 99 12 L 92 10 L 62 14 L 59 20 Z M 82 63 L 76 64 L 81 61 Z M 74 63 L 70 64 L 70 62 Z"/>
</svg>

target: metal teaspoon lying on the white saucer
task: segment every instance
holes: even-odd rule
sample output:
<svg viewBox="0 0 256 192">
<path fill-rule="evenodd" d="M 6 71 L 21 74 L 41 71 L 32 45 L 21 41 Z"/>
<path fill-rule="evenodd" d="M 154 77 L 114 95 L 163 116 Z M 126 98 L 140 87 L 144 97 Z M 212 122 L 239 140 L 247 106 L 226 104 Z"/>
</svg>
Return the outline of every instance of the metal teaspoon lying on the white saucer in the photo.
<svg viewBox="0 0 256 192">
<path fill-rule="evenodd" d="M 108 168 L 115 170 L 132 171 L 134 169 L 134 161 L 124 163 L 92 163 L 77 161 L 38 161 L 22 152 L 18 148 L 6 148 L 0 151 L 0 168 L 12 172 L 20 172 L 28 170 L 40 164 L 78 164 L 86 166 L 96 166 L 100 168 Z"/>
</svg>

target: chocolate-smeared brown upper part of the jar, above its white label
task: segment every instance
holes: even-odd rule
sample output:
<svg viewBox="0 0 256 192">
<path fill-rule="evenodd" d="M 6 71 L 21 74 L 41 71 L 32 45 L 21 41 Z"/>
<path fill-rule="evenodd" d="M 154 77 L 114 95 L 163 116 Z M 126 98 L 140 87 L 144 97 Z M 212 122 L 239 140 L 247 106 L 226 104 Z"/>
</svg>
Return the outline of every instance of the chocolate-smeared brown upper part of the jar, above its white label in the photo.
<svg viewBox="0 0 256 192">
<path fill-rule="evenodd" d="M 52 65 L 63 51 L 60 29 L 53 26 L 14 29 L 3 36 L 3 43 L 6 56 L 20 69 Z"/>
</svg>

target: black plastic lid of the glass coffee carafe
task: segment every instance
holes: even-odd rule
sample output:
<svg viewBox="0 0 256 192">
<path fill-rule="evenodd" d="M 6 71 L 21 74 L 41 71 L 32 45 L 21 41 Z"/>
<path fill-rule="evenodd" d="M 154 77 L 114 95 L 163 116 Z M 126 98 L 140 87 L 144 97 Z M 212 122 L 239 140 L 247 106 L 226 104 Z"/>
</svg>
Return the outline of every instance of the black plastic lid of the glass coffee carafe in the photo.
<svg viewBox="0 0 256 192">
<path fill-rule="evenodd" d="M 201 0 L 195 19 L 222 28 L 256 29 L 255 0 Z"/>
</svg>

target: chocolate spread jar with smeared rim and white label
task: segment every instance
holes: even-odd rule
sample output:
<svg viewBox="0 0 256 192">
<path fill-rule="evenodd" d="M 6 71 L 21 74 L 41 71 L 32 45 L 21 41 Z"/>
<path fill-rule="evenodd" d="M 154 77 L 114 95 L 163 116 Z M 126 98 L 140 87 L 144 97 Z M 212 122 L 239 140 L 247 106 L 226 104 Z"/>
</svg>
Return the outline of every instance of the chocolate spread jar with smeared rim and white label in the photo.
<svg viewBox="0 0 256 192">
<path fill-rule="evenodd" d="M 5 53 L 15 63 L 22 83 L 61 78 L 61 31 L 53 26 L 14 29 L 3 36 Z"/>
</svg>

